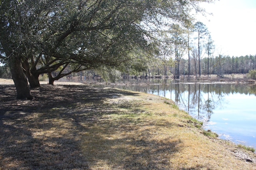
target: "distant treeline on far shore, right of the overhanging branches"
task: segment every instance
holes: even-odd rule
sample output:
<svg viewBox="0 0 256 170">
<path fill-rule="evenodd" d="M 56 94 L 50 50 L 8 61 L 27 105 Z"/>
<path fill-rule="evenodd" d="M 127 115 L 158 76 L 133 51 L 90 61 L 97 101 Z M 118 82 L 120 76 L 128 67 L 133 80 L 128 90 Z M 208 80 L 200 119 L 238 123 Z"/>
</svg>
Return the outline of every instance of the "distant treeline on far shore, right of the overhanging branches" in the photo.
<svg viewBox="0 0 256 170">
<path fill-rule="evenodd" d="M 246 74 L 249 70 L 256 69 L 256 55 L 246 55 L 240 57 L 230 57 L 219 55 L 216 57 L 209 58 L 209 69 L 208 69 L 208 57 L 201 59 L 201 75 L 217 74 L 223 76 L 224 74 Z M 181 75 L 197 75 L 198 76 L 198 59 L 190 58 L 190 72 L 188 70 L 188 59 L 181 59 L 179 63 L 179 73 Z M 177 68 L 175 66 L 162 66 L 148 68 L 146 74 L 151 75 L 175 75 Z M 145 73 L 143 73 L 145 74 Z"/>
</svg>

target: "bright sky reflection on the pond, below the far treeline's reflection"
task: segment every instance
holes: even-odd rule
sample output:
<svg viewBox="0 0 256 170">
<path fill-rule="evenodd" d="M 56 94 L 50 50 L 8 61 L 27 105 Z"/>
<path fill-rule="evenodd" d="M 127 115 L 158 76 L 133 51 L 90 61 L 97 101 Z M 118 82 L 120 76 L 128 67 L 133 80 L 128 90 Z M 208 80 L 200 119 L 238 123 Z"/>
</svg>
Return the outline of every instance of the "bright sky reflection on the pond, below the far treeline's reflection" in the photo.
<svg viewBox="0 0 256 170">
<path fill-rule="evenodd" d="M 174 96 L 172 96 L 172 100 L 175 100 Z M 200 96 L 201 103 L 207 103 L 208 93 L 200 92 Z M 176 103 L 181 109 L 188 111 L 188 92 L 183 92 L 180 97 L 182 99 L 180 98 Z M 204 108 L 202 104 L 199 106 L 199 115 L 198 106 L 190 107 L 188 111 L 190 115 L 197 119 L 199 117 L 200 120 L 204 121 L 204 129 L 215 131 L 221 139 L 256 148 L 256 96 L 222 93 L 220 97 L 219 94 L 212 92 L 209 94 L 209 100 L 213 106 L 210 119 L 208 119 L 207 108 Z"/>
</svg>

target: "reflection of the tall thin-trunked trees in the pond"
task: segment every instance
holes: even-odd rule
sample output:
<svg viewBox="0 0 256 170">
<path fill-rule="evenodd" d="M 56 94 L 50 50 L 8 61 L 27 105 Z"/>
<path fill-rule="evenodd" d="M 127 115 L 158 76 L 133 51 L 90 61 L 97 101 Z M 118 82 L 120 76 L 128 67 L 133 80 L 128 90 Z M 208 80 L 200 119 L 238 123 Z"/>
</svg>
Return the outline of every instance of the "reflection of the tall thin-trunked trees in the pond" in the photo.
<svg viewBox="0 0 256 170">
<path fill-rule="evenodd" d="M 214 108 L 224 102 L 222 87 L 218 84 L 180 83 L 172 90 L 180 108 L 202 121 L 208 121 Z"/>
</svg>

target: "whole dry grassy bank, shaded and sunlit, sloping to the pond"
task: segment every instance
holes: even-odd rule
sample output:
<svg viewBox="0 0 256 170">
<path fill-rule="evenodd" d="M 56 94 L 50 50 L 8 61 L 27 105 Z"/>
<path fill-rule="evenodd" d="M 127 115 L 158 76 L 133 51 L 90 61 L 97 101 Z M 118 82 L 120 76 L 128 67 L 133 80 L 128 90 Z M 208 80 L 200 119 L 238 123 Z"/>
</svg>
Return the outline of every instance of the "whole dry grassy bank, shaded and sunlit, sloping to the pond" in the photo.
<svg viewBox="0 0 256 170">
<path fill-rule="evenodd" d="M 43 84 L 32 94 L 16 100 L 14 85 L 0 85 L 0 170 L 256 169 L 253 152 L 166 98 L 88 85 Z"/>
</svg>

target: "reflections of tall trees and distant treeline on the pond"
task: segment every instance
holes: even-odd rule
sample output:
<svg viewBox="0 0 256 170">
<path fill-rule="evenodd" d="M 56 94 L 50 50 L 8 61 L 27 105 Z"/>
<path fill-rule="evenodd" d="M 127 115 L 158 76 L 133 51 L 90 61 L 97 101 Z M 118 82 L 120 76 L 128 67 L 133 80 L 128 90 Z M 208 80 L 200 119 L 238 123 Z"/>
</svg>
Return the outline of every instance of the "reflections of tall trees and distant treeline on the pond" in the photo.
<svg viewBox="0 0 256 170">
<path fill-rule="evenodd" d="M 256 94 L 256 85 L 248 84 L 204 84 L 173 82 L 171 90 L 175 94 L 172 100 L 180 108 L 188 111 L 197 119 L 208 121 L 216 107 L 222 108 L 226 101 L 225 95 Z"/>
</svg>

